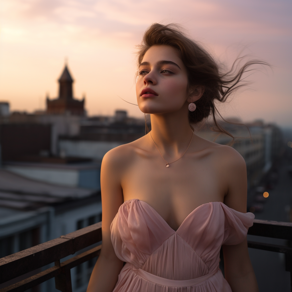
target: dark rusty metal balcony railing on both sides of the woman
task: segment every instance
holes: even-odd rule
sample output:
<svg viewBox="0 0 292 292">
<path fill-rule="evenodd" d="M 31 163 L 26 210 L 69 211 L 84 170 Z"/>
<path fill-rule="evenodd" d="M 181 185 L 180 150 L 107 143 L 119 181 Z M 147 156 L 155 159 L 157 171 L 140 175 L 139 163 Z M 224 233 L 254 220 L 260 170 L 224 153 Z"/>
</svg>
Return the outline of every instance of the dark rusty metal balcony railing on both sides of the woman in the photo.
<svg viewBox="0 0 292 292">
<path fill-rule="evenodd" d="M 267 220 L 254 220 L 248 234 L 292 240 L 292 223 Z M 102 240 L 101 222 L 62 235 L 59 238 L 33 246 L 24 251 L 14 253 L 0 259 L 0 284 L 15 279 L 28 272 L 34 271 L 55 262 L 55 265 L 31 277 L 2 288 L 0 292 L 22 292 L 48 279 L 55 277 L 55 287 L 62 292 L 72 292 L 70 269 L 99 255 L 101 245 L 91 248 L 69 260 L 60 263 L 65 258 L 77 251 Z M 292 248 L 289 246 L 267 244 L 248 241 L 248 247 L 284 253 L 286 271 L 292 272 Z M 291 281 L 292 283 L 292 281 Z M 292 291 L 292 288 L 291 288 Z"/>
</svg>

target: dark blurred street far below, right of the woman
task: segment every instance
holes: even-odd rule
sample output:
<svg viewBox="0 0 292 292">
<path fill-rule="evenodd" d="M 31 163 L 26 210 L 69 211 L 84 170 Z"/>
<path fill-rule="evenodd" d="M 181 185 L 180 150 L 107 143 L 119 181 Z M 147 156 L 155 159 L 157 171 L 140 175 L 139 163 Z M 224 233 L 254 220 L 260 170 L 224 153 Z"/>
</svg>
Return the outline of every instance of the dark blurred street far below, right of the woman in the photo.
<svg viewBox="0 0 292 292">
<path fill-rule="evenodd" d="M 256 219 L 289 222 L 291 206 L 292 177 L 288 173 L 288 161 L 284 157 L 279 168 L 279 181 L 273 190 L 269 190 L 269 197 L 261 213 L 255 213 Z M 284 240 L 267 239 L 248 236 L 248 240 L 262 241 L 274 244 L 287 244 Z M 284 254 L 261 251 L 249 248 L 249 255 L 256 273 L 260 292 L 288 292 L 290 287 L 290 273 L 285 271 Z"/>
</svg>

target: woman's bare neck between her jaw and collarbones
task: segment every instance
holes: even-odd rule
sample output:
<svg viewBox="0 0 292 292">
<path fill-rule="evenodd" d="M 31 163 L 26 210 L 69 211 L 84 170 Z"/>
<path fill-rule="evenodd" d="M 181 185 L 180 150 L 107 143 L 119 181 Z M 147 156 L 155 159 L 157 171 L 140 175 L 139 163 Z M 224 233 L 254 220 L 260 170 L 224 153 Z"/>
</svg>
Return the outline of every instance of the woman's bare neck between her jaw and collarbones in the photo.
<svg viewBox="0 0 292 292">
<path fill-rule="evenodd" d="M 192 137 L 188 116 L 180 111 L 151 114 L 151 129 L 151 136 L 160 152 L 168 155 L 184 151 Z"/>
</svg>

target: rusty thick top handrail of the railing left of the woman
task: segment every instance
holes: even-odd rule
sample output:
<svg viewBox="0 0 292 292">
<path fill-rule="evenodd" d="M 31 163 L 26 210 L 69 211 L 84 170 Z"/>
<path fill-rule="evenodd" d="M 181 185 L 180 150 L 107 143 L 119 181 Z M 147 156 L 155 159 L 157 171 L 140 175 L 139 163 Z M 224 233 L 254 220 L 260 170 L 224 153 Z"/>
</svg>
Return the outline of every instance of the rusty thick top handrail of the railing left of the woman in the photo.
<svg viewBox="0 0 292 292">
<path fill-rule="evenodd" d="M 101 241 L 101 222 L 0 259 L 0 284 Z"/>
</svg>

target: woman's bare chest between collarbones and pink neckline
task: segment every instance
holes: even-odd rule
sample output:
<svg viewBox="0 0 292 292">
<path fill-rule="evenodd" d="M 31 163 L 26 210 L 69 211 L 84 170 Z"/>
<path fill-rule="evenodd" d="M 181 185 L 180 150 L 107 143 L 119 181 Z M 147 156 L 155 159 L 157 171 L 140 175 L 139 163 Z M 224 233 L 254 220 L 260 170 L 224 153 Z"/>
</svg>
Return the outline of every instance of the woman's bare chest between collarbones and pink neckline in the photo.
<svg viewBox="0 0 292 292">
<path fill-rule="evenodd" d="M 226 192 L 226 180 L 214 161 L 192 155 L 185 155 L 169 167 L 159 157 L 138 157 L 125 171 L 121 186 L 124 201 L 149 203 L 173 226 L 179 226 L 198 206 L 223 201 Z"/>
</svg>

